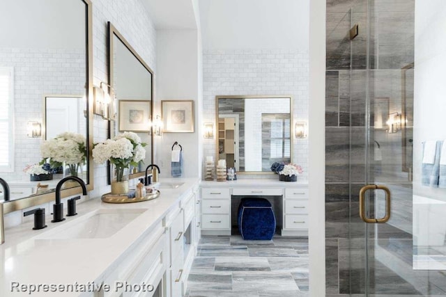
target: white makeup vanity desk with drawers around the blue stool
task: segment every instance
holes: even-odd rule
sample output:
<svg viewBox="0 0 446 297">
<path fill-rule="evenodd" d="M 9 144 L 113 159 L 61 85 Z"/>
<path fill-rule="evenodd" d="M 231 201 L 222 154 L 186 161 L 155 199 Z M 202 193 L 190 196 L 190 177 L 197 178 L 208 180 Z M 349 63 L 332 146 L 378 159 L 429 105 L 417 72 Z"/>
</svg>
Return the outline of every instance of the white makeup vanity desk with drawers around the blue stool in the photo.
<svg viewBox="0 0 446 297">
<path fill-rule="evenodd" d="M 231 235 L 240 199 L 268 199 L 282 236 L 308 236 L 308 182 L 275 179 L 201 181 L 201 234 Z"/>
</svg>

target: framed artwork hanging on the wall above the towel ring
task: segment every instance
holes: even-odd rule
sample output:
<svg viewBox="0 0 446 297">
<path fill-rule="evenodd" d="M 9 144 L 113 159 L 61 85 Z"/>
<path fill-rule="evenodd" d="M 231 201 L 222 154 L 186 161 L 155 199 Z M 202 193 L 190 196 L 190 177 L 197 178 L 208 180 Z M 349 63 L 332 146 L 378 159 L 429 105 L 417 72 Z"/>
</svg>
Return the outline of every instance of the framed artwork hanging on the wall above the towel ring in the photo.
<svg viewBox="0 0 446 297">
<path fill-rule="evenodd" d="M 164 132 L 194 131 L 194 102 L 192 100 L 161 100 Z"/>
</svg>

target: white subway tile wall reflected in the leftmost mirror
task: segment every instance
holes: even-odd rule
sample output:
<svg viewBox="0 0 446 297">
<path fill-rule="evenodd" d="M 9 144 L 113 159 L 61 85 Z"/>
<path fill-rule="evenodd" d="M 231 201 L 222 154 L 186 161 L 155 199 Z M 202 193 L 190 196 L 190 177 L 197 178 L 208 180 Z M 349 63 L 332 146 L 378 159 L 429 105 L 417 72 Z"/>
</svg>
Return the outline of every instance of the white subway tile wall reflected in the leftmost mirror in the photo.
<svg viewBox="0 0 446 297">
<path fill-rule="evenodd" d="M 27 164 L 38 163 L 42 138 L 26 136 L 29 121 L 43 121 L 45 95 L 85 93 L 85 54 L 80 49 L 0 48 L 1 65 L 14 69 L 14 172 L 1 172 L 8 181 L 26 181 Z M 82 86 L 82 88 L 80 88 Z"/>
</svg>

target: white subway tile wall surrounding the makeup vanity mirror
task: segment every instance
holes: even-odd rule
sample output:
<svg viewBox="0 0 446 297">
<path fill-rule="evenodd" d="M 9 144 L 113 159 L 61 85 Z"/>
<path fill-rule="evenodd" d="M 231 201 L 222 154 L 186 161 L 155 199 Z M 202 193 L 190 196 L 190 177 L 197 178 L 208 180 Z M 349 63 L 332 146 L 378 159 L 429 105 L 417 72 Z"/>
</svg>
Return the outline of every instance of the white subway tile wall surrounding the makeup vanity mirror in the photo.
<svg viewBox="0 0 446 297">
<path fill-rule="evenodd" d="M 204 49 L 203 122 L 215 122 L 217 95 L 293 95 L 294 120 L 308 120 L 308 51 L 297 49 Z M 308 138 L 295 139 L 293 163 L 307 180 Z M 216 158 L 214 139 L 203 140 L 203 156 Z M 268 175 L 243 175 L 243 178 Z"/>
</svg>

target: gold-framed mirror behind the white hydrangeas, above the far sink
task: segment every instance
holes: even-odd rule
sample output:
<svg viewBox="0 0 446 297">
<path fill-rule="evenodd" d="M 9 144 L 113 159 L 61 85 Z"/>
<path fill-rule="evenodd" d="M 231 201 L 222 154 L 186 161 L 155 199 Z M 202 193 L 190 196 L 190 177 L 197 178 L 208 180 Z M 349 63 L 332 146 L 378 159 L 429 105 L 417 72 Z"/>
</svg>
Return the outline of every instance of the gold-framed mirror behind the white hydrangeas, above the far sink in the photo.
<svg viewBox="0 0 446 297">
<path fill-rule="evenodd" d="M 137 54 L 124 36 L 108 23 L 109 85 L 113 89 L 116 120 L 109 122 L 109 138 L 123 131 L 132 131 L 146 143 L 146 158 L 138 168 L 132 168 L 130 179 L 144 175 L 153 163 L 153 134 L 150 122 L 153 111 L 153 70 Z M 108 170 L 111 182 L 112 168 Z"/>
</svg>

